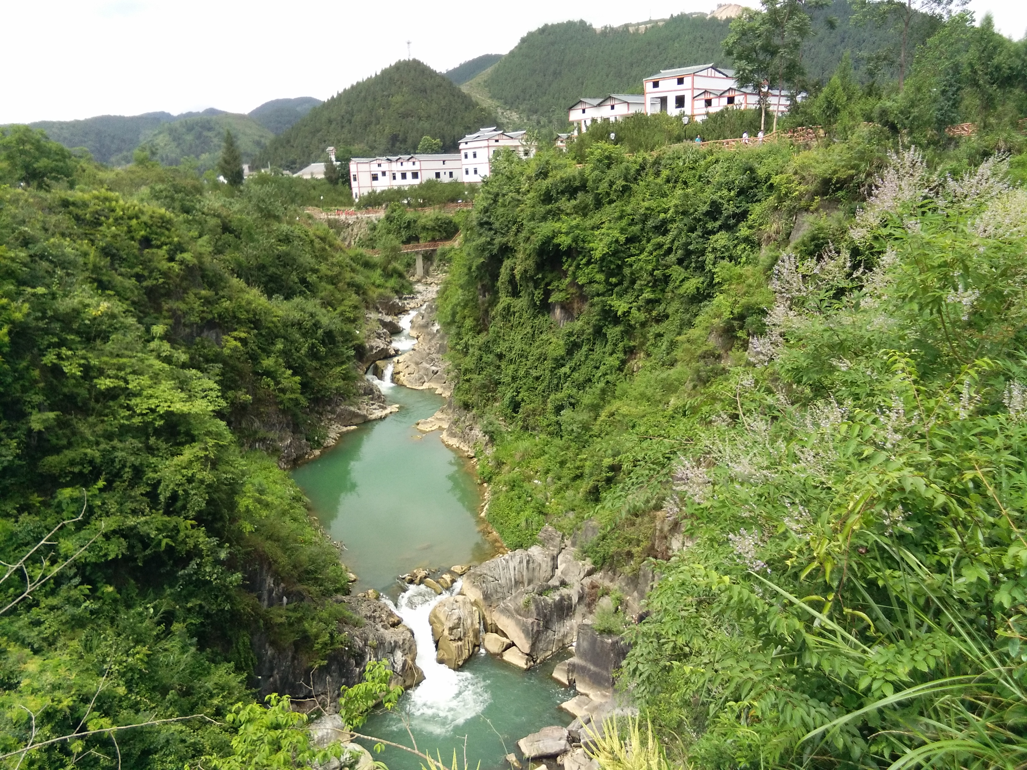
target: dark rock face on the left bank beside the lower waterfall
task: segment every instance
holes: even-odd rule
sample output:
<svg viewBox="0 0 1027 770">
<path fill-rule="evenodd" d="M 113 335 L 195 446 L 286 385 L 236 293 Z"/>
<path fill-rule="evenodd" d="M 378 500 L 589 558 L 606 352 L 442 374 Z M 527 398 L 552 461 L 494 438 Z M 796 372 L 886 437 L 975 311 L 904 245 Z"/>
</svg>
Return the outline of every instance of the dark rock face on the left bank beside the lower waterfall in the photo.
<svg viewBox="0 0 1027 770">
<path fill-rule="evenodd" d="M 306 601 L 301 592 L 290 590 L 266 563 L 258 561 L 248 575 L 246 587 L 261 606 L 269 609 Z M 340 630 L 349 639 L 348 645 L 332 651 L 324 664 L 311 665 L 310 654 L 292 644 L 276 645 L 264 629 L 256 630 L 252 647 L 257 664 L 253 686 L 261 697 L 270 693 L 291 695 L 298 705 L 320 704 L 333 709 L 339 698 L 339 688 L 360 681 L 364 666 L 371 660 L 387 660 L 394 671 L 393 684 L 413 687 L 424 679 L 415 662 L 417 646 L 414 634 L 398 615 L 381 602 L 363 596 L 336 596 L 350 613 L 363 619 L 356 627 L 340 623 Z"/>
</svg>

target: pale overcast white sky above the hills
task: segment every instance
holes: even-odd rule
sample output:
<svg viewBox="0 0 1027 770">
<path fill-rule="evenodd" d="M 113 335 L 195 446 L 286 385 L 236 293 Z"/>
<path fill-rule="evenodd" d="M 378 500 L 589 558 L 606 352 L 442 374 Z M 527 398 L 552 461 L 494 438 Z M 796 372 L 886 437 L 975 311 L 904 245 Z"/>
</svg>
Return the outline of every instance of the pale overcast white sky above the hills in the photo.
<svg viewBox="0 0 1027 770">
<path fill-rule="evenodd" d="M 505 53 L 526 33 L 584 17 L 619 25 L 710 11 L 722 0 L 33 0 L 0 3 L 6 73 L 0 124 L 92 115 L 250 112 L 272 99 L 328 99 L 410 52 L 436 70 Z M 756 2 L 745 3 L 756 5 Z M 1004 35 L 1025 0 L 971 0 Z"/>
</svg>

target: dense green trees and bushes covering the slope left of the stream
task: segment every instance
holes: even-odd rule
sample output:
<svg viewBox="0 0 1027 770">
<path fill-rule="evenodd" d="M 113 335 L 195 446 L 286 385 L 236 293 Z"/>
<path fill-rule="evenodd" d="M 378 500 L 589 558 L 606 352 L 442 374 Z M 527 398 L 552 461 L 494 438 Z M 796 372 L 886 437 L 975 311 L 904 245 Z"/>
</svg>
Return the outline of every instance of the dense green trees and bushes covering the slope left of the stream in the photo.
<svg viewBox="0 0 1027 770">
<path fill-rule="evenodd" d="M 5 766 L 226 755 L 252 633 L 345 647 L 346 571 L 277 441 L 321 440 L 365 307 L 409 284 L 303 217 L 304 182 L 0 139 L 0 755 L 96 731 Z M 258 567 L 288 606 L 260 605 Z"/>
</svg>

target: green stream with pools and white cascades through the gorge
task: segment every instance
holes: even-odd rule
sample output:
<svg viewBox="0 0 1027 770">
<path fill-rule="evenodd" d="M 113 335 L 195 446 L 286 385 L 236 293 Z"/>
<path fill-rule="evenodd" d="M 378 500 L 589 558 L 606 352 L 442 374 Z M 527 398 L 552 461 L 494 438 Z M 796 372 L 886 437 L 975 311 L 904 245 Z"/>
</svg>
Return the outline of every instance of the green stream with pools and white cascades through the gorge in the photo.
<svg viewBox="0 0 1027 770">
<path fill-rule="evenodd" d="M 393 347 L 410 350 L 411 311 Z M 572 692 L 550 678 L 559 658 L 522 671 L 481 650 L 458 671 L 435 662 L 428 613 L 442 599 L 425 586 L 406 586 L 396 578 L 416 567 L 448 569 L 479 564 L 492 548 L 478 529 L 479 486 L 468 462 L 440 439 L 414 427 L 444 403 L 431 391 L 413 390 L 375 379 L 400 411 L 349 431 L 294 477 L 314 514 L 332 537 L 345 544 L 343 560 L 358 576 L 354 590 L 375 588 L 417 641 L 417 664 L 424 681 L 405 693 L 393 711 L 381 711 L 359 732 L 410 745 L 404 720 L 418 748 L 441 754 L 447 766 L 457 752 L 463 766 L 464 736 L 468 770 L 507 767 L 504 755 L 518 739 L 546 725 L 566 724 L 557 706 Z M 459 590 L 459 582 L 446 591 Z M 368 745 L 371 748 L 371 745 Z M 386 746 L 375 759 L 389 770 L 419 770 L 413 754 Z"/>
</svg>

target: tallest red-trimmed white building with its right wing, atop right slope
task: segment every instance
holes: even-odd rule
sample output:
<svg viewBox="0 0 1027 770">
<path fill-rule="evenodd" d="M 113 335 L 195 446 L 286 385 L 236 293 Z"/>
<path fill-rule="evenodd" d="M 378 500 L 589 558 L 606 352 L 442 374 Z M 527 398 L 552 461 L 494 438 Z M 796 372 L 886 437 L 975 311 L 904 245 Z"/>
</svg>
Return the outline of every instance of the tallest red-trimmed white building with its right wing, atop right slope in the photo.
<svg viewBox="0 0 1027 770">
<path fill-rule="evenodd" d="M 661 70 L 645 78 L 642 88 L 646 115 L 665 112 L 703 120 L 725 108 L 755 109 L 760 104 L 757 91 L 738 86 L 733 70 L 713 64 Z M 767 112 L 788 112 L 791 99 L 787 93 L 772 89 L 766 95 Z"/>
</svg>

